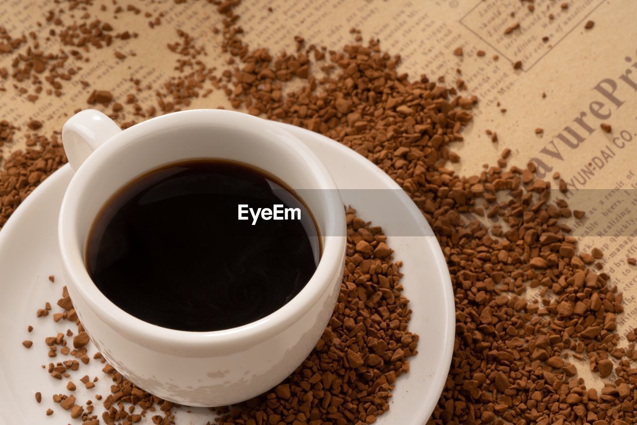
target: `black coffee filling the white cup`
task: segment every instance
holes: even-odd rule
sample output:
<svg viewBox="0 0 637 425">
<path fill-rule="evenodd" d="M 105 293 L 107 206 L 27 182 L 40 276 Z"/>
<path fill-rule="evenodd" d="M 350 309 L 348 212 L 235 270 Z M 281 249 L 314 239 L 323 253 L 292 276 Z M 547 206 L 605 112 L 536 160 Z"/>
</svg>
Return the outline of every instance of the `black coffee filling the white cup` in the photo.
<svg viewBox="0 0 637 425">
<path fill-rule="evenodd" d="M 131 315 L 216 331 L 294 298 L 317 268 L 317 236 L 306 206 L 275 177 L 237 162 L 187 161 L 112 196 L 90 231 L 86 263 L 99 290 Z"/>
</svg>

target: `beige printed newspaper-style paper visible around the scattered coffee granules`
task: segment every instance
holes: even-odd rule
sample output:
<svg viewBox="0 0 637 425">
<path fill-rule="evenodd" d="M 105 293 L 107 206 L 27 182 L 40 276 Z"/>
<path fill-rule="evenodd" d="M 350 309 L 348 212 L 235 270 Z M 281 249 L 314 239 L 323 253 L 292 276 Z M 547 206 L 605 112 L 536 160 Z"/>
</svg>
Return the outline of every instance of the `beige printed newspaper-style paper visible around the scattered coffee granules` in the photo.
<svg viewBox="0 0 637 425">
<path fill-rule="evenodd" d="M 580 171 L 589 162 L 593 164 L 594 157 L 601 158 L 601 150 L 607 150 L 613 152 L 612 157 L 602 161 L 602 166 L 589 169 L 591 175 L 585 185 L 580 186 L 612 189 L 633 185 L 634 189 L 637 187 L 637 90 L 620 80 L 620 76 L 631 69 L 632 75 L 627 77 L 637 81 L 637 66 L 634 66 L 637 62 L 634 20 L 637 2 L 568 1 L 567 10 L 561 9 L 561 3 L 536 0 L 535 11 L 531 13 L 526 8 L 527 3 L 518 0 L 246 0 L 238 13 L 249 45 L 252 48 L 268 47 L 275 54 L 281 50 L 294 51 L 295 35 L 303 36 L 307 45 L 315 43 L 336 50 L 353 40 L 349 29 L 357 27 L 362 30 L 364 41 L 378 38 L 383 49 L 392 54 L 400 53 L 403 58 L 401 69 L 412 78 L 418 78 L 422 73 L 431 79 L 442 75 L 447 84 L 452 85 L 457 78 L 455 69 L 461 68 L 469 92 L 480 99 L 475 120 L 464 130 L 464 143 L 454 145 L 462 158 L 455 168 L 463 174 L 479 172 L 484 163 L 495 164 L 499 153 L 504 148 L 511 148 L 510 164 L 524 166 L 530 159 L 538 158 L 552 168 L 547 175 L 549 180 L 554 171 L 559 171 L 566 182 L 571 182 L 574 176 L 581 177 Z M 106 4 L 107 11 L 99 11 L 100 4 Z M 124 8 L 127 4 L 120 3 Z M 74 110 L 87 108 L 86 99 L 93 89 L 111 90 L 115 99 L 124 103 L 125 94 L 133 88 L 129 81 L 131 77 L 140 78 L 142 85 L 153 85 L 154 89 L 144 90 L 138 97 L 142 105 L 155 104 L 155 89 L 174 72 L 176 55 L 169 52 L 166 43 L 178 41 L 175 29 L 188 32 L 194 36 L 196 45 L 206 48 L 204 62 L 218 69 L 226 68 L 227 57 L 220 53 L 221 37 L 211 32 L 213 26 L 221 27 L 215 6 L 192 0 L 185 4 L 175 4 L 172 0 L 132 4 L 136 4 L 142 13 L 135 15 L 125 11 L 113 18 L 114 6 L 110 0 L 96 1 L 88 8 L 89 21 L 99 18 L 113 25 L 113 32 L 129 30 L 139 35 L 127 41 L 114 40 L 110 48 L 92 48 L 87 55 L 90 62 L 78 64 L 83 67 L 79 75 L 71 82 L 64 82 L 62 97 L 41 95 L 36 103 L 30 103 L 25 96 L 18 96 L 12 80 L 0 80 L 0 86 L 6 89 L 0 93 L 0 119 L 22 127 L 23 131 L 29 119 L 43 120 L 45 126 L 41 132 L 48 134 L 61 129 Z M 273 11 L 269 12 L 268 6 Z M 57 39 L 45 41 L 48 27 L 37 25 L 45 22 L 45 14 L 50 8 L 59 8 L 59 5 L 47 0 L 0 0 L 3 11 L 0 25 L 13 37 L 35 31 L 45 46 L 43 50 L 50 51 L 57 46 Z M 151 18 L 144 16 L 146 11 L 152 13 Z M 148 20 L 160 12 L 164 13 L 162 24 L 150 29 Z M 510 16 L 511 12 L 515 17 Z M 554 20 L 549 20 L 550 13 L 554 14 Z M 83 11 L 78 9 L 73 12 L 75 18 L 71 13 L 64 13 L 62 19 L 66 24 L 73 20 L 81 22 L 82 14 Z M 584 24 L 589 19 L 594 20 L 595 26 L 585 30 Z M 520 22 L 520 29 L 509 35 L 503 34 L 504 29 L 515 22 Z M 548 43 L 541 40 L 543 36 L 550 37 Z M 452 54 L 459 46 L 464 49 L 463 57 Z M 129 56 L 119 61 L 113 55 L 115 50 Z M 484 50 L 485 57 L 476 57 L 476 50 Z M 132 53 L 136 55 L 132 56 Z M 499 55 L 498 61 L 492 59 L 494 54 Z M 13 54 L 0 54 L 0 68 L 10 70 L 12 57 Z M 523 67 L 513 71 L 512 63 L 517 60 L 523 62 Z M 619 107 L 594 89 L 605 79 L 617 84 L 614 94 L 622 102 Z M 83 89 L 80 80 L 88 81 L 90 86 Z M 29 89 L 28 84 L 22 86 Z M 547 95 L 545 99 L 543 92 Z M 496 106 L 498 101 L 501 106 Z M 602 121 L 593 117 L 589 110 L 593 101 L 605 103 L 603 112 L 610 113 L 610 117 L 604 121 L 612 124 L 612 134 L 599 129 Z M 217 106 L 229 108 L 221 92 L 197 99 L 190 108 Z M 506 108 L 506 113 L 500 112 L 500 108 Z M 594 129 L 590 135 L 573 123 L 581 112 L 587 113 L 585 122 Z M 127 119 L 132 118 L 130 114 L 126 115 Z M 569 148 L 557 138 L 558 134 L 565 134 L 566 126 L 586 135 L 578 147 Z M 543 134 L 536 135 L 536 127 L 543 128 Z M 498 143 L 490 141 L 486 129 L 497 131 Z M 24 147 L 21 134 L 17 133 L 15 145 L 2 148 L 5 156 L 15 148 Z M 622 143 L 620 134 L 631 141 Z M 542 153 L 545 147 L 552 152 L 557 147 L 561 159 Z M 621 197 L 621 191 L 618 191 L 610 194 L 610 204 L 596 205 L 599 197 L 592 196 L 591 200 L 590 193 L 574 190 L 569 201 L 571 207 L 590 210 L 595 206 L 605 210 Z M 587 196 L 589 201 L 583 203 L 582 199 Z M 615 217 L 619 212 L 623 212 L 622 217 Z M 623 199 L 608 212 L 608 217 L 592 224 L 589 232 L 599 231 L 604 219 L 615 217 L 616 226 L 619 226 L 634 216 L 634 205 L 630 199 Z M 580 228 L 578 234 L 583 234 L 582 230 Z M 627 256 L 637 256 L 637 241 L 631 236 L 582 238 L 580 248 L 589 250 L 594 246 L 605 247 L 603 271 L 612 271 L 609 273 L 613 277 L 612 284 L 625 291 L 626 313 L 618 317 L 623 339 L 627 329 L 637 326 L 637 268 L 627 266 L 625 261 Z M 590 379 L 587 362 L 577 365 L 580 375 Z M 597 381 L 595 385 L 602 384 Z"/>
</svg>

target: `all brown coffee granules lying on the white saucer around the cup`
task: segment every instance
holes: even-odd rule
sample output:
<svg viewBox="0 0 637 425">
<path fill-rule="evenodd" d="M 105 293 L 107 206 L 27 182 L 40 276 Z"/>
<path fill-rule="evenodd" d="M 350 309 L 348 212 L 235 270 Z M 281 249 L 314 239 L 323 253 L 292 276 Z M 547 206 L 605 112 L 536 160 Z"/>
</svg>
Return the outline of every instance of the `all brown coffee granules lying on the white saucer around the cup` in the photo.
<svg viewBox="0 0 637 425">
<path fill-rule="evenodd" d="M 392 261 L 393 251 L 379 226 L 357 217 L 353 208 L 346 211 L 346 218 L 343 283 L 334 313 L 315 349 L 271 392 L 233 407 L 215 408 L 222 415 L 221 423 L 371 424 L 389 410 L 396 378 L 409 371 L 408 357 L 417 354 L 418 343 L 418 335 L 408 330 L 412 310 L 401 293 L 402 263 Z M 90 342 L 66 287 L 57 306 L 62 312 L 54 313 L 54 317 L 59 315 L 55 322 L 62 327 L 68 326 L 66 321 L 78 326 L 75 334 L 67 330 L 45 338 L 49 357 L 57 357 L 59 351 L 66 358 L 48 365 L 51 377 L 64 382 L 82 364 L 90 363 Z M 68 347 L 67 338 L 71 337 L 73 350 Z M 92 358 L 105 363 L 99 353 Z M 102 371 L 113 381 L 111 394 L 102 401 L 105 412 L 101 419 L 105 423 L 140 422 L 157 410 L 161 415 L 152 416 L 155 424 L 174 423 L 173 403 L 145 393 L 110 364 L 104 364 Z M 94 387 L 87 375 L 80 382 Z M 76 390 L 72 380 L 67 381 L 66 389 Z M 53 401 L 69 410 L 71 418 L 97 420 L 93 408 L 85 409 L 73 394 L 54 394 Z"/>
</svg>

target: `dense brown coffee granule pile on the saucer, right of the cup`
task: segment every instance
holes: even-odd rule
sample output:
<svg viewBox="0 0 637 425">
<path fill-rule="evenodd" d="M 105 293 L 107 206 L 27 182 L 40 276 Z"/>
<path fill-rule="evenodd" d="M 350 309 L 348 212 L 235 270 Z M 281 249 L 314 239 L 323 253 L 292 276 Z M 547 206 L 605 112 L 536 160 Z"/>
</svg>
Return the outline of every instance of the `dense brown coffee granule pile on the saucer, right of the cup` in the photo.
<svg viewBox="0 0 637 425">
<path fill-rule="evenodd" d="M 346 213 L 345 276 L 323 336 L 273 391 L 217 408 L 221 423 L 257 423 L 250 420 L 264 417 L 278 423 L 296 417 L 301 422 L 371 424 L 389 410 L 396 378 L 409 370 L 408 357 L 417 353 L 418 336 L 407 328 L 412 310 L 401 294 L 401 261 L 392 261 L 380 227 L 357 217 L 352 208 Z"/>
</svg>

